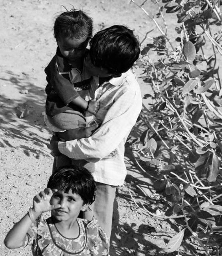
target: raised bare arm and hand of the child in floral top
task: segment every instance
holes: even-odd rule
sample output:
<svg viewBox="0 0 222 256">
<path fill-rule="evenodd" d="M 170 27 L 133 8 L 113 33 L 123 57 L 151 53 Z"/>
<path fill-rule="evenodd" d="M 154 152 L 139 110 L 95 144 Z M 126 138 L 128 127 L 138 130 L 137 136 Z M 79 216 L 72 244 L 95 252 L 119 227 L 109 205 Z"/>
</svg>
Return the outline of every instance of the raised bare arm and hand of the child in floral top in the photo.
<svg viewBox="0 0 222 256">
<path fill-rule="evenodd" d="M 19 222 L 13 226 L 13 228 L 6 235 L 4 240 L 6 247 L 10 249 L 21 247 L 28 230 L 32 225 L 32 222 L 34 222 L 43 212 L 60 207 L 59 204 L 50 204 L 50 199 L 55 191 L 57 190 L 45 188 L 44 191 L 40 192 L 33 198 L 33 207 Z"/>
</svg>

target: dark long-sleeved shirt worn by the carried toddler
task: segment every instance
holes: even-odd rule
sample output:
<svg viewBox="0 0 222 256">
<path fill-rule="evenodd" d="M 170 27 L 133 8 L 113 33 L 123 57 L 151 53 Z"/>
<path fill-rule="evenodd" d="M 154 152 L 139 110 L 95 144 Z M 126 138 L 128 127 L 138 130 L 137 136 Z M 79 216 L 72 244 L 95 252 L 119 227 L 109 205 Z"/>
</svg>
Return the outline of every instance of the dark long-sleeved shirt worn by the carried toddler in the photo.
<svg viewBox="0 0 222 256">
<path fill-rule="evenodd" d="M 46 115 L 55 116 L 66 110 L 83 111 L 70 102 L 81 96 L 85 98 L 90 88 L 90 75 L 83 66 L 83 72 L 72 68 L 57 48 L 55 56 L 45 68 L 46 80 Z"/>
</svg>

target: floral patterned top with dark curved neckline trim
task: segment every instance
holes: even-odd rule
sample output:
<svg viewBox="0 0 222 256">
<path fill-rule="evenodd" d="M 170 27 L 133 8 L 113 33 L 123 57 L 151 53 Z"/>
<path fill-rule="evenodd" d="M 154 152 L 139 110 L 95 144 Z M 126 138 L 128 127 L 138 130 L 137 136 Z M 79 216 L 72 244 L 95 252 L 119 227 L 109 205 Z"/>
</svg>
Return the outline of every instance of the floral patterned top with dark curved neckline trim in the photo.
<svg viewBox="0 0 222 256">
<path fill-rule="evenodd" d="M 28 230 L 23 246 L 31 245 L 34 256 L 109 256 L 109 239 L 98 221 L 77 219 L 79 236 L 65 238 L 52 218 L 40 216 Z"/>
</svg>

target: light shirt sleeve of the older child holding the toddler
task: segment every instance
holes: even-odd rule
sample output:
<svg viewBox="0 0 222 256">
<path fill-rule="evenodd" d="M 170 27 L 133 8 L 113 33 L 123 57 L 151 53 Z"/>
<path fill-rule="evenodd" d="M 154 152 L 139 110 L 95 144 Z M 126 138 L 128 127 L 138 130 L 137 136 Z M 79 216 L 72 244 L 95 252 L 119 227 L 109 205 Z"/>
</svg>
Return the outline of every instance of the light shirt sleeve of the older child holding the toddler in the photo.
<svg viewBox="0 0 222 256">
<path fill-rule="evenodd" d="M 127 90 L 107 111 L 102 125 L 89 138 L 59 142 L 59 151 L 73 159 L 94 158 L 97 162 L 108 156 L 128 136 L 141 111 L 138 90 Z"/>
</svg>

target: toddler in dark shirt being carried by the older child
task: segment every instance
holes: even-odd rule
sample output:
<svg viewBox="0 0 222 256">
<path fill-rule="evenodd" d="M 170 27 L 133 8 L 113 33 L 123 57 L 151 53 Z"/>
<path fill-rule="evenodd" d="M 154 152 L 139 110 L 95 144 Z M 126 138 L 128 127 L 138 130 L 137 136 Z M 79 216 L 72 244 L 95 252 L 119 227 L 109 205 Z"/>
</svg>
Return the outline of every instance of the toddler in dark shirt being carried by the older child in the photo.
<svg viewBox="0 0 222 256">
<path fill-rule="evenodd" d="M 46 115 L 54 130 L 85 126 L 84 112 L 96 114 L 99 103 L 86 101 L 90 74 L 83 66 L 86 47 L 92 36 L 93 21 L 81 10 L 61 13 L 55 19 L 54 36 L 57 50 L 45 68 Z"/>
</svg>

